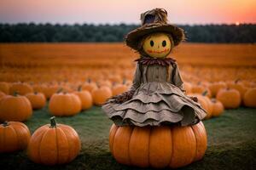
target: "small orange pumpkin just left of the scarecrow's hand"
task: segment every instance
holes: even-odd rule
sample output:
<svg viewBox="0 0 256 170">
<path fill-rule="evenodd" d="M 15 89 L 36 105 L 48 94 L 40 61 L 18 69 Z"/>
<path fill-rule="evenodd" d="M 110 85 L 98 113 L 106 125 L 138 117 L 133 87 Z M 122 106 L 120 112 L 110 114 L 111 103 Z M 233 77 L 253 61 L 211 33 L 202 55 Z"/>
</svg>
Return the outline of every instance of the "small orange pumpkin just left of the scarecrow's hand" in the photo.
<svg viewBox="0 0 256 170">
<path fill-rule="evenodd" d="M 91 92 L 93 103 L 95 105 L 102 105 L 104 104 L 107 99 L 111 98 L 112 91 L 107 86 L 103 86 L 101 88 L 94 89 Z"/>
</svg>

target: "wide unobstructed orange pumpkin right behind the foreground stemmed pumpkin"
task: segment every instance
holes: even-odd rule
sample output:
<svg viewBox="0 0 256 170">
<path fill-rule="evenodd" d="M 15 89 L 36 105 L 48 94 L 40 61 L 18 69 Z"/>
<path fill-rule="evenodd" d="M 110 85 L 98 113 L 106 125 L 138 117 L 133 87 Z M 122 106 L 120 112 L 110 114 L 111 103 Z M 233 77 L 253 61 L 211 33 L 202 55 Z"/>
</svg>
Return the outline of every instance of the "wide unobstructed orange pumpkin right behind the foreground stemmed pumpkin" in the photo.
<svg viewBox="0 0 256 170">
<path fill-rule="evenodd" d="M 74 116 L 82 109 L 76 94 L 58 93 L 49 99 L 49 112 L 54 116 Z"/>
</svg>

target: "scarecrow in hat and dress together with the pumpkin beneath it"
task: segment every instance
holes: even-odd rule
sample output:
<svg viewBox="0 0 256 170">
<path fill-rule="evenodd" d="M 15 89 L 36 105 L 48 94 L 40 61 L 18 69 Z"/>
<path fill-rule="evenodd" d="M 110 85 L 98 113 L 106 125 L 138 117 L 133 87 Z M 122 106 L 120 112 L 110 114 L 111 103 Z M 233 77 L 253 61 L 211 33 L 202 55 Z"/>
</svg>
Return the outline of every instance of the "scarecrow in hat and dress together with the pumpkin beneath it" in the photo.
<svg viewBox="0 0 256 170">
<path fill-rule="evenodd" d="M 184 40 L 183 30 L 167 23 L 167 13 L 162 8 L 141 14 L 141 21 L 142 26 L 129 32 L 125 38 L 126 45 L 140 54 L 136 59 L 132 86 L 129 91 L 108 99 L 102 105 L 103 111 L 114 122 L 109 136 L 110 150 L 117 161 L 127 165 L 182 167 L 201 159 L 205 153 L 207 135 L 201 120 L 207 112 L 195 98 L 185 94 L 177 62 L 167 57 Z M 197 127 L 201 133 L 190 132 Z M 154 134 L 156 129 L 160 130 Z M 188 132 L 194 133 L 194 137 L 185 139 L 175 137 L 177 144 L 188 143 L 189 149 L 175 145 L 175 138 L 170 133 L 176 134 L 177 131 L 182 131 L 183 137 Z M 151 150 L 153 141 L 159 143 Z M 199 143 L 201 147 L 197 145 Z M 193 154 L 186 155 L 187 152 Z M 152 153 L 154 156 L 150 160 Z"/>
</svg>

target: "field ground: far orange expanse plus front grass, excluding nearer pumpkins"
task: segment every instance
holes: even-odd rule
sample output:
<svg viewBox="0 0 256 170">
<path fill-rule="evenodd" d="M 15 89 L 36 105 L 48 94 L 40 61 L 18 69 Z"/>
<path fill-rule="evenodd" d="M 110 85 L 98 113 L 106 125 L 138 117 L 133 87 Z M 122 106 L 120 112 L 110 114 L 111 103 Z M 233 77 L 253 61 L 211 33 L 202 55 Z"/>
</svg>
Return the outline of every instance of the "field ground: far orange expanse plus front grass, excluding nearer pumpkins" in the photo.
<svg viewBox="0 0 256 170">
<path fill-rule="evenodd" d="M 0 44 L 0 82 L 9 86 L 24 82 L 33 91 L 49 95 L 48 98 L 60 88 L 73 93 L 89 79 L 97 86 L 109 88 L 122 84 L 125 79 L 129 87 L 137 56 L 122 43 Z M 204 121 L 208 138 L 206 155 L 182 169 L 255 169 L 256 109 L 245 103 L 244 94 L 256 88 L 256 45 L 184 43 L 171 56 L 177 59 L 189 94 L 207 90 L 210 98 L 216 98 L 212 85 L 221 82 L 226 88 L 235 88 L 240 96 L 236 109 L 226 108 L 224 101 L 224 112 Z M 207 105 L 209 109 L 210 104 Z M 33 111 L 25 124 L 33 133 L 49 123 L 50 116 L 48 101 L 43 109 Z M 19 151 L 0 154 L 0 167 L 135 169 L 113 159 L 108 148 L 112 122 L 101 107 L 94 105 L 76 116 L 57 117 L 56 121 L 72 126 L 79 133 L 82 150 L 74 161 L 45 167 L 30 161 L 26 151 Z"/>
</svg>

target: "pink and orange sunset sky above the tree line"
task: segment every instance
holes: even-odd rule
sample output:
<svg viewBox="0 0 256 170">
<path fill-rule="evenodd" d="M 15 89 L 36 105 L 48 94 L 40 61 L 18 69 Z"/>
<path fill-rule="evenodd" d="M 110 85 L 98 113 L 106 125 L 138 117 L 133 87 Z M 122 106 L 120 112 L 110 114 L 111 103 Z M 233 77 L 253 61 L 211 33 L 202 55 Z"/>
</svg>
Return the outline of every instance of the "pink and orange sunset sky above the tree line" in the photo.
<svg viewBox="0 0 256 170">
<path fill-rule="evenodd" d="M 166 8 L 177 24 L 256 23 L 256 0 L 0 0 L 0 23 L 139 23 Z"/>
</svg>

